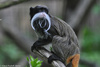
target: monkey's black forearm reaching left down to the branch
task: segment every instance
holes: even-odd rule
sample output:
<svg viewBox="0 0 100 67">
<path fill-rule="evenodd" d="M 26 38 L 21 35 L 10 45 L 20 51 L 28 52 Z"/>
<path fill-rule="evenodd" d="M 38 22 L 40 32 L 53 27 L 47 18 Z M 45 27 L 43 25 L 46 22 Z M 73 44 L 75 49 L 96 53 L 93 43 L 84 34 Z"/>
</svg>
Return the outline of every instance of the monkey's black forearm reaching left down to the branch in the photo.
<svg viewBox="0 0 100 67">
<path fill-rule="evenodd" d="M 50 37 L 48 38 L 39 38 L 31 47 L 31 51 L 33 52 L 34 49 L 40 48 L 43 45 L 50 43 L 52 40 Z"/>
</svg>

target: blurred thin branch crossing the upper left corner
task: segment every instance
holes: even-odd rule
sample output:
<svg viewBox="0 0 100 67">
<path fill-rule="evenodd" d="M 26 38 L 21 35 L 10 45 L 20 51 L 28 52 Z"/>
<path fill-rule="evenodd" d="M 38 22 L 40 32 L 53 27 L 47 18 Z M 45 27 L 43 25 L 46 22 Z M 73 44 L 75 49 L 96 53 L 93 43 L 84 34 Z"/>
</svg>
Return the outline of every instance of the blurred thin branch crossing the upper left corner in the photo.
<svg viewBox="0 0 100 67">
<path fill-rule="evenodd" d="M 13 0 L 13 1 L 4 2 L 4 3 L 0 4 L 0 9 L 4 9 L 4 8 L 7 8 L 7 7 L 10 7 L 13 5 L 17 5 L 17 4 L 20 4 L 23 2 L 27 2 L 27 1 L 30 1 L 30 0 L 16 0 L 16 1 Z"/>
</svg>

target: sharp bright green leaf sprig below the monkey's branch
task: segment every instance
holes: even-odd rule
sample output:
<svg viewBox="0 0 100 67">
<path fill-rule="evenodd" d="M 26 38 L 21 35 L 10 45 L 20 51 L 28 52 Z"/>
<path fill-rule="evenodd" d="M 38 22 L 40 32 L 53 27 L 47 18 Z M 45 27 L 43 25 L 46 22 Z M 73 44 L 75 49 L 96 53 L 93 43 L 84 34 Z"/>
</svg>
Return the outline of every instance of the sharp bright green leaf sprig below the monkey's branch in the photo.
<svg viewBox="0 0 100 67">
<path fill-rule="evenodd" d="M 32 56 L 30 56 L 30 59 L 27 57 L 27 61 L 29 62 L 30 67 L 40 67 L 42 63 L 38 58 L 34 59 Z"/>
</svg>

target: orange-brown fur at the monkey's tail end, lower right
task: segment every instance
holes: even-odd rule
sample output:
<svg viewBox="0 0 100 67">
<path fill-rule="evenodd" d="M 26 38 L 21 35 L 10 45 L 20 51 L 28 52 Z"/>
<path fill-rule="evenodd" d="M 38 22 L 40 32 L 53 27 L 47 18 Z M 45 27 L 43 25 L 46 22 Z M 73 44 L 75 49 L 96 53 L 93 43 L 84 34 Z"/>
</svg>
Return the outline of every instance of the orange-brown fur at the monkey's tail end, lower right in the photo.
<svg viewBox="0 0 100 67">
<path fill-rule="evenodd" d="M 80 54 L 75 54 L 74 56 L 70 56 L 67 58 L 66 62 L 69 64 L 72 61 L 72 67 L 78 67 L 80 59 Z"/>
</svg>

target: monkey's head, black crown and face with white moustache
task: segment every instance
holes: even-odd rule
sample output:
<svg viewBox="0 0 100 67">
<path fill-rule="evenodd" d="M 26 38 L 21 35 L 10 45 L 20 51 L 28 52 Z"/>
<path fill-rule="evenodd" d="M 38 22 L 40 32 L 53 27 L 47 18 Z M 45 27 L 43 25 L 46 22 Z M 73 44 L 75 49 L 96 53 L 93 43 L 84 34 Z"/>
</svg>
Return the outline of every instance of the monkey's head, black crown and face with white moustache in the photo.
<svg viewBox="0 0 100 67">
<path fill-rule="evenodd" d="M 48 9 L 44 6 L 36 6 L 30 8 L 31 26 L 34 30 L 48 31 L 51 27 Z"/>
</svg>

